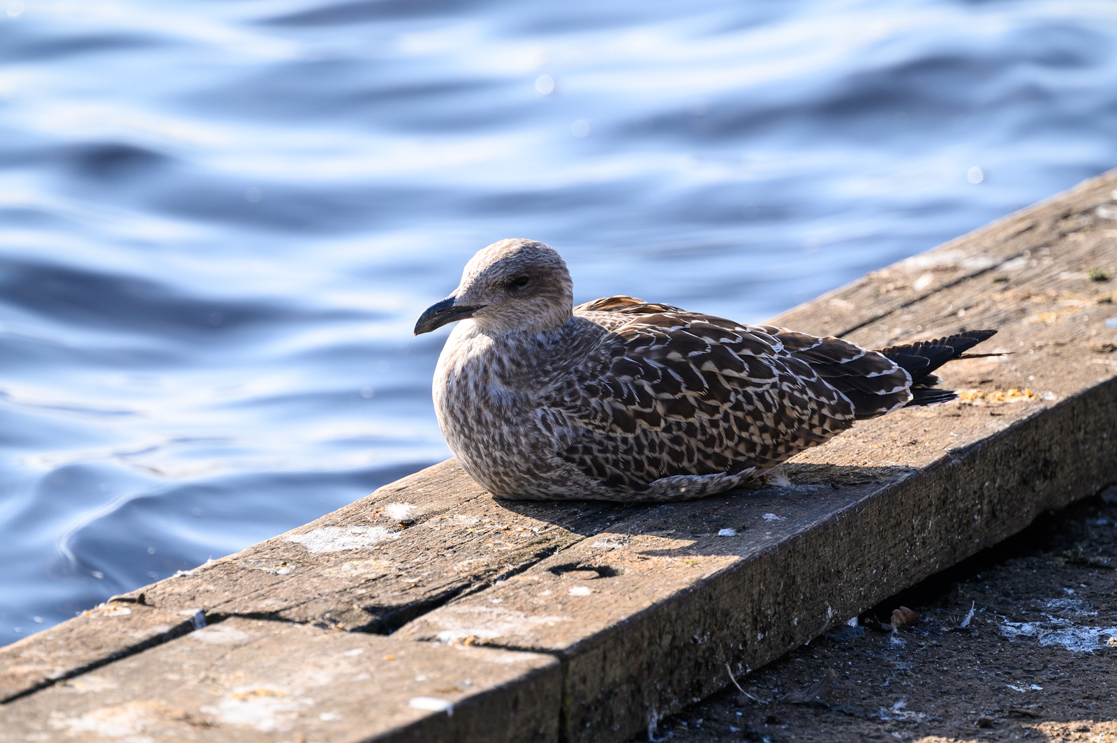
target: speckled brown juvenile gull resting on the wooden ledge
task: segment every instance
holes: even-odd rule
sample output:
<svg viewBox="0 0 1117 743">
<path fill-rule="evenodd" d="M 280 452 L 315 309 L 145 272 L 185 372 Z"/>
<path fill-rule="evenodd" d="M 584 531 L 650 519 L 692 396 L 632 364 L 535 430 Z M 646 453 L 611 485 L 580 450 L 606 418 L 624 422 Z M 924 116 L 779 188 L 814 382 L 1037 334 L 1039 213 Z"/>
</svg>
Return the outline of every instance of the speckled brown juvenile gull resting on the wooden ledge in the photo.
<svg viewBox="0 0 1117 743">
<path fill-rule="evenodd" d="M 932 373 L 995 332 L 867 350 L 632 297 L 572 305 L 553 248 L 502 240 L 416 324 L 418 336 L 459 321 L 435 409 L 458 462 L 499 498 L 720 493 L 855 421 L 953 399 Z"/>
</svg>

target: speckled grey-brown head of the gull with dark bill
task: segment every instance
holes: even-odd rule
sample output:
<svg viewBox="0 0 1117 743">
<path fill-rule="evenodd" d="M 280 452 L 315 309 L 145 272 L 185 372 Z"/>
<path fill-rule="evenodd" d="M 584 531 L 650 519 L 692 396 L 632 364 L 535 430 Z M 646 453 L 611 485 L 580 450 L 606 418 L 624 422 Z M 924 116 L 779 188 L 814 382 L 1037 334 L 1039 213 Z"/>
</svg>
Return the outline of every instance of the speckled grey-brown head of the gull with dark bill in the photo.
<svg viewBox="0 0 1117 743">
<path fill-rule="evenodd" d="M 554 248 L 502 240 L 466 263 L 461 283 L 419 317 L 416 335 L 466 318 L 490 334 L 548 330 L 570 321 L 573 303 L 570 272 Z"/>
</svg>

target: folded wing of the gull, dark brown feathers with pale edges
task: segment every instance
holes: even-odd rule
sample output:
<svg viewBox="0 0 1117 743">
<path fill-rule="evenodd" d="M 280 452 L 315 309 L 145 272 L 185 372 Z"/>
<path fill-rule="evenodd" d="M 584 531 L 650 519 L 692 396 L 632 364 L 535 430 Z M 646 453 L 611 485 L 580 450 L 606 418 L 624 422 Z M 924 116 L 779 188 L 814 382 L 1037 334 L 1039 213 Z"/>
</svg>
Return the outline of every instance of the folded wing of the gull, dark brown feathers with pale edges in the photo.
<svg viewBox="0 0 1117 743">
<path fill-rule="evenodd" d="M 624 302 L 623 300 L 631 300 Z M 765 328 L 647 312 L 613 297 L 577 308 L 638 310 L 545 402 L 572 430 L 561 453 L 607 485 L 767 467 L 852 424 L 849 401 Z"/>
</svg>

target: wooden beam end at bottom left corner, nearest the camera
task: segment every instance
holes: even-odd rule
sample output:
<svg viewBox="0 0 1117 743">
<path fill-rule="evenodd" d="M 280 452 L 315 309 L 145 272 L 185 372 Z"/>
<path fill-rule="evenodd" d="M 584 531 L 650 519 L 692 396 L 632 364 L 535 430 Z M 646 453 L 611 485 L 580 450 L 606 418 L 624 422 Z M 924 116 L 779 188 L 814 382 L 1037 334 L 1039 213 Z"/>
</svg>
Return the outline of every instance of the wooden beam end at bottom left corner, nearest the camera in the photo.
<svg viewBox="0 0 1117 743">
<path fill-rule="evenodd" d="M 558 663 L 232 618 L 0 707 L 0 741 L 557 740 Z"/>
</svg>

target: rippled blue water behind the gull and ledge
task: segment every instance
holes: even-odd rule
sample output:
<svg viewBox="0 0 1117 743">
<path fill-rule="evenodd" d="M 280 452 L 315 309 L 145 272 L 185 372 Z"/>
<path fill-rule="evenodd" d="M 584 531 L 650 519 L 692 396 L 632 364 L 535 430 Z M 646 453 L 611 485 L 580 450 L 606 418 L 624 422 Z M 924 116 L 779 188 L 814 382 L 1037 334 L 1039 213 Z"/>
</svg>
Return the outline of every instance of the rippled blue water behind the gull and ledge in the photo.
<svg viewBox="0 0 1117 743">
<path fill-rule="evenodd" d="M 1107 0 L 0 19 L 0 643 L 447 456 L 410 328 L 494 240 L 758 320 L 1117 164 Z"/>
</svg>

